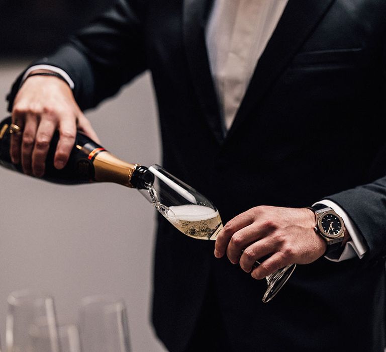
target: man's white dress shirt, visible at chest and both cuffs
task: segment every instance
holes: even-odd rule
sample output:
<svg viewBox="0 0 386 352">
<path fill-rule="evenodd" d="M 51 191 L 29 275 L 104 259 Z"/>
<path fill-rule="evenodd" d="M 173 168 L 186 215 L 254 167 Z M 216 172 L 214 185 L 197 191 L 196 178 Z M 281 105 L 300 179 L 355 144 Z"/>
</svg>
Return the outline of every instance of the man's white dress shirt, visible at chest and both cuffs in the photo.
<svg viewBox="0 0 386 352">
<path fill-rule="evenodd" d="M 206 28 L 206 45 L 225 130 L 229 130 L 244 98 L 255 66 L 263 53 L 288 0 L 216 0 Z M 62 69 L 50 65 L 29 68 L 60 73 L 73 89 L 74 83 Z M 366 247 L 355 224 L 334 202 L 320 203 L 333 208 L 343 218 L 352 240 L 339 258 L 363 257 Z"/>
</svg>

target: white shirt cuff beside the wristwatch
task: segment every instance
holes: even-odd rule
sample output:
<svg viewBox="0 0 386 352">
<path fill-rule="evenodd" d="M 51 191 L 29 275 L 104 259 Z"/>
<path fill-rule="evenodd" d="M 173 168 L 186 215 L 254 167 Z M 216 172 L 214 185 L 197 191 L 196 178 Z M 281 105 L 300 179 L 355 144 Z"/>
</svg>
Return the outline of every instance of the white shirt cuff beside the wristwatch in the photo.
<svg viewBox="0 0 386 352">
<path fill-rule="evenodd" d="M 367 251 L 366 244 L 364 243 L 364 240 L 358 228 L 353 223 L 353 221 L 349 218 L 347 213 L 338 204 L 330 200 L 323 199 L 322 201 L 317 202 L 315 204 L 319 204 L 319 203 L 334 209 L 334 211 L 343 219 L 344 226 L 351 237 L 351 240 L 346 243 L 342 253 L 338 258 L 331 258 L 328 256 L 325 256 L 325 258 L 331 261 L 343 261 L 343 260 L 351 259 L 351 258 L 354 258 L 355 256 L 358 256 L 360 259 L 362 259 L 363 255 Z"/>
</svg>

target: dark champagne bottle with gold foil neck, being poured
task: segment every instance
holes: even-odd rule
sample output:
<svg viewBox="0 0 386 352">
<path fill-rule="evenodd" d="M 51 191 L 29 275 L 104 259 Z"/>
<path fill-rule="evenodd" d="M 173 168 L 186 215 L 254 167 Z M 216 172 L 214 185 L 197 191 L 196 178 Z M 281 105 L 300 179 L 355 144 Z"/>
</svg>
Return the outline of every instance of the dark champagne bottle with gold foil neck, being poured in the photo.
<svg viewBox="0 0 386 352">
<path fill-rule="evenodd" d="M 0 123 L 0 165 L 23 172 L 21 164 L 16 165 L 11 161 L 11 123 L 10 117 Z M 55 132 L 47 154 L 43 180 L 68 185 L 113 182 L 137 189 L 145 189 L 146 184 L 152 184 L 153 175 L 146 172 L 147 167 L 119 159 L 79 131 L 66 166 L 58 170 L 54 166 L 58 140 L 59 133 Z"/>
</svg>

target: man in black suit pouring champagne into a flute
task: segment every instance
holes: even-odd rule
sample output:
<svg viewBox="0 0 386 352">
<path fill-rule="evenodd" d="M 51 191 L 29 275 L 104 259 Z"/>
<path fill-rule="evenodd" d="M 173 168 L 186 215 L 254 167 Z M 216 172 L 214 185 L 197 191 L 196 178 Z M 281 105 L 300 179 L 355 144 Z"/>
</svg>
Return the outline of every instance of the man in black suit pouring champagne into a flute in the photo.
<svg viewBox="0 0 386 352">
<path fill-rule="evenodd" d="M 217 259 L 159 218 L 153 323 L 167 348 L 381 351 L 385 15 L 383 0 L 119 0 L 19 77 L 12 158 L 42 175 L 59 129 L 63 167 L 76 126 L 96 138 L 81 110 L 150 69 L 163 165 L 226 223 Z M 308 265 L 263 304 L 254 279 L 292 262 Z"/>
</svg>

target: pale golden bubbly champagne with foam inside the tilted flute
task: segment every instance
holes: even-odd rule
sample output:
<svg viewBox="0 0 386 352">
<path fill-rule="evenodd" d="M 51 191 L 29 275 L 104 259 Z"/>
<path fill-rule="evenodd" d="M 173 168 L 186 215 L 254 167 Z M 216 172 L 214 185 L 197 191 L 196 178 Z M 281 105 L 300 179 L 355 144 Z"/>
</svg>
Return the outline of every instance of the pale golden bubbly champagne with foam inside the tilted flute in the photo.
<svg viewBox="0 0 386 352">
<path fill-rule="evenodd" d="M 215 239 L 223 227 L 219 212 L 202 205 L 171 206 L 165 217 L 185 235 L 198 239 Z"/>
</svg>

